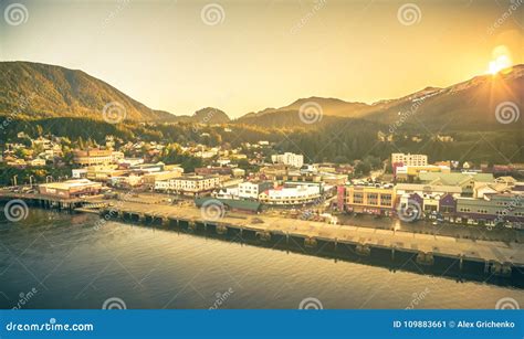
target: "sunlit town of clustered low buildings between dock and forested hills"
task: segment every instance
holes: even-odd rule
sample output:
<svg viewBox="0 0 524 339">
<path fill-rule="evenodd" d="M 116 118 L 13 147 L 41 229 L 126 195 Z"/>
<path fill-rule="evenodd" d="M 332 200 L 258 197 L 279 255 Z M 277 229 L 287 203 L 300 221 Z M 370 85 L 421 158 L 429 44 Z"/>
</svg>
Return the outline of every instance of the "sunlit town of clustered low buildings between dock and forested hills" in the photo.
<svg viewBox="0 0 524 339">
<path fill-rule="evenodd" d="M 360 214 L 489 229 L 522 229 L 524 222 L 524 182 L 518 180 L 523 165 L 430 162 L 427 155 L 401 152 L 375 165 L 308 163 L 300 153 L 276 153 L 264 140 L 237 149 L 177 145 L 177 152 L 198 159 L 200 167 L 193 167 L 161 161 L 172 151 L 161 142 L 107 136 L 105 145 L 70 148 L 55 136 L 18 137 L 20 142 L 6 144 L 4 168 L 65 170 L 63 176 L 44 172 L 40 182 L 35 174 L 13 174 L 3 188 L 11 193 L 117 199 L 124 192 L 147 192 L 169 197 L 172 203 L 201 208 L 213 201 L 224 212 L 276 211 L 327 224 L 344 224 L 346 215 Z"/>
</svg>

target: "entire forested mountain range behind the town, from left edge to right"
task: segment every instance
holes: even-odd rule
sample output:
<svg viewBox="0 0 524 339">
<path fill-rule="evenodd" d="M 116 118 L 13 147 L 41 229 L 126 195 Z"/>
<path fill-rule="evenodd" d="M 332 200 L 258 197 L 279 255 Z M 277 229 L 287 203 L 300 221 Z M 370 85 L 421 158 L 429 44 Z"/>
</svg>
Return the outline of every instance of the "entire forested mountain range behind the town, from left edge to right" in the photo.
<svg viewBox="0 0 524 339">
<path fill-rule="evenodd" d="M 245 124 L 259 127 L 314 128 L 301 119 L 306 106 L 319 115 L 315 123 L 367 119 L 396 124 L 399 116 L 416 115 L 406 126 L 501 128 L 494 112 L 497 103 L 515 103 L 523 110 L 524 65 L 514 65 L 496 75 L 478 75 L 448 87 L 427 86 L 408 95 L 371 104 L 334 97 L 298 98 L 279 108 L 268 107 L 231 119 L 223 110 L 205 107 L 192 115 L 174 115 L 151 109 L 116 87 L 81 70 L 32 62 L 0 62 L 0 115 L 17 114 L 28 119 L 87 117 L 103 119 L 104 107 L 119 103 L 125 118 L 139 123 Z M 489 99 L 488 99 L 489 98 Z M 313 106 L 312 106 L 313 104 Z M 313 108 L 311 108 L 313 107 Z M 520 113 L 517 112 L 517 113 Z M 460 118 L 457 118 L 457 117 Z M 302 117 L 303 118 L 303 117 Z M 404 123 L 402 123 L 404 124 Z M 520 120 L 522 124 L 522 119 Z"/>
</svg>

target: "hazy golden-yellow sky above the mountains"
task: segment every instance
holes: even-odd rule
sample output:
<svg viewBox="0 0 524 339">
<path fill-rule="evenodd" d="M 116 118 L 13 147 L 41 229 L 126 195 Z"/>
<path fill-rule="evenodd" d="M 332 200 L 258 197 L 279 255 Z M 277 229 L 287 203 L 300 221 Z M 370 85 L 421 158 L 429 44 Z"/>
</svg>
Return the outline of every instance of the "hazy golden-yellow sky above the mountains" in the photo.
<svg viewBox="0 0 524 339">
<path fill-rule="evenodd" d="M 448 86 L 483 74 L 499 45 L 524 63 L 523 2 L 0 0 L 0 57 L 82 70 L 177 115 L 238 117 Z M 9 24 L 13 3 L 28 14 Z"/>
</svg>

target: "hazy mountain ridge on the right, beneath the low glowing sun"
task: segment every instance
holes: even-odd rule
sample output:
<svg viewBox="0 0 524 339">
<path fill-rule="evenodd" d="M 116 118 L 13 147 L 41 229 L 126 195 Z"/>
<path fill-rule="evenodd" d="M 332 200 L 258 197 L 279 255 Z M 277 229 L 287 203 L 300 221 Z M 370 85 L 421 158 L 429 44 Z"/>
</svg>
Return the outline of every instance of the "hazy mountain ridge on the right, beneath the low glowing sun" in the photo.
<svg viewBox="0 0 524 339">
<path fill-rule="evenodd" d="M 376 123 L 392 124 L 398 127 L 398 121 L 406 116 L 412 117 L 404 121 L 401 127 L 418 126 L 430 130 L 439 130 L 439 126 L 450 128 L 509 128 L 514 127 L 496 117 L 497 105 L 514 103 L 517 107 L 513 114 L 518 119 L 523 110 L 524 93 L 524 65 L 514 65 L 495 75 L 478 75 L 468 81 L 448 87 L 427 86 L 408 95 L 382 99 L 373 104 L 350 103 L 336 98 L 310 97 L 295 100 L 281 108 L 263 109 L 258 114 L 250 113 L 238 119 L 237 123 L 261 126 L 301 126 L 313 128 L 318 124 L 301 120 L 297 103 L 310 100 L 318 104 L 318 117 L 315 123 L 325 124 L 333 118 L 358 118 Z M 328 103 L 325 105 L 325 103 Z M 515 110 L 515 108 L 513 108 Z M 415 116 L 415 117 L 413 117 Z M 460 118 L 458 118 L 460 117 Z M 329 119 L 328 119 L 329 118 Z M 274 123 L 273 123 L 274 121 Z M 513 123 L 513 121 L 512 121 Z M 397 128 L 396 127 L 396 128 Z M 395 129 L 396 129 L 395 128 Z"/>
</svg>

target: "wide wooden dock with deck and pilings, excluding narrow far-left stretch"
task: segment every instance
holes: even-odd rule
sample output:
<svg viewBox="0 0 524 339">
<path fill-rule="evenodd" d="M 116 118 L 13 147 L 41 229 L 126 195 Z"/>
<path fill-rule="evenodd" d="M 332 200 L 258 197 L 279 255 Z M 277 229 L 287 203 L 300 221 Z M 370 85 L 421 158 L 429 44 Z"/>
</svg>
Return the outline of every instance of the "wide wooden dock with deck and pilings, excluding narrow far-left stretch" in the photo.
<svg viewBox="0 0 524 339">
<path fill-rule="evenodd" d="M 261 241 L 284 237 L 300 241 L 304 247 L 317 247 L 328 243 L 332 247 L 349 245 L 364 256 L 377 250 L 395 253 L 410 253 L 421 265 L 432 265 L 434 259 L 451 258 L 465 263 L 481 263 L 485 273 L 507 276 L 524 268 L 524 245 L 494 241 L 457 239 L 452 236 L 419 234 L 390 230 L 377 230 L 346 225 L 332 225 L 295 219 L 266 215 L 226 214 L 218 220 L 206 220 L 206 213 L 197 208 L 170 205 L 144 205 L 136 202 L 115 201 L 104 209 L 104 215 L 125 220 L 158 222 L 165 225 L 176 223 L 190 229 L 213 229 L 223 234 L 235 231 L 254 233 Z"/>
</svg>

